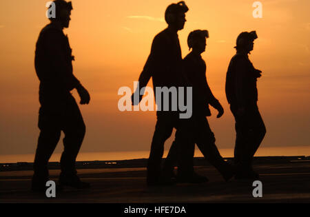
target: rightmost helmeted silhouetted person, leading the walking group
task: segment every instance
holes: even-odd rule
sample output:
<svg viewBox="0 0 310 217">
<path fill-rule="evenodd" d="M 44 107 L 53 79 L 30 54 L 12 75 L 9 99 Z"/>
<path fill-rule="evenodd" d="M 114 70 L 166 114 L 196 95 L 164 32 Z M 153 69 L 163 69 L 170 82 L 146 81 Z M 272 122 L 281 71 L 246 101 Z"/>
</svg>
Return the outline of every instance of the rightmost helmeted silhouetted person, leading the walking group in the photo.
<svg viewBox="0 0 310 217">
<path fill-rule="evenodd" d="M 258 110 L 257 79 L 261 71 L 256 70 L 248 54 L 254 49 L 256 31 L 241 32 L 236 41 L 236 54 L 232 57 L 226 76 L 226 96 L 236 121 L 236 145 L 234 161 L 239 169 L 237 179 L 258 178 L 252 161 L 266 134 L 265 124 Z"/>
</svg>

